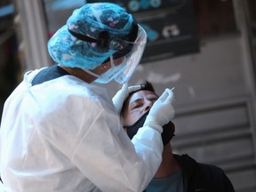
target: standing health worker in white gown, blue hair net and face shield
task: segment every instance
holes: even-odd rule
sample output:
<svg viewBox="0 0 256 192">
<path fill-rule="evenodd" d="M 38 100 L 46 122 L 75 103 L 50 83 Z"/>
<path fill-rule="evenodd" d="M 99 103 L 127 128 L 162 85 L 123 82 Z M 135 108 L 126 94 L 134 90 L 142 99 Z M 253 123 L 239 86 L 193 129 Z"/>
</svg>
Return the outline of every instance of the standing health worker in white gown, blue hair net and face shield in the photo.
<svg viewBox="0 0 256 192">
<path fill-rule="evenodd" d="M 129 140 L 119 111 L 146 33 L 111 3 L 84 4 L 49 40 L 51 67 L 29 71 L 4 103 L 0 173 L 8 192 L 140 192 L 162 160 L 167 89 Z M 110 98 L 111 80 L 124 84 Z M 92 84 L 97 82 L 100 84 Z M 113 102 L 113 101 L 114 102 Z"/>
</svg>

